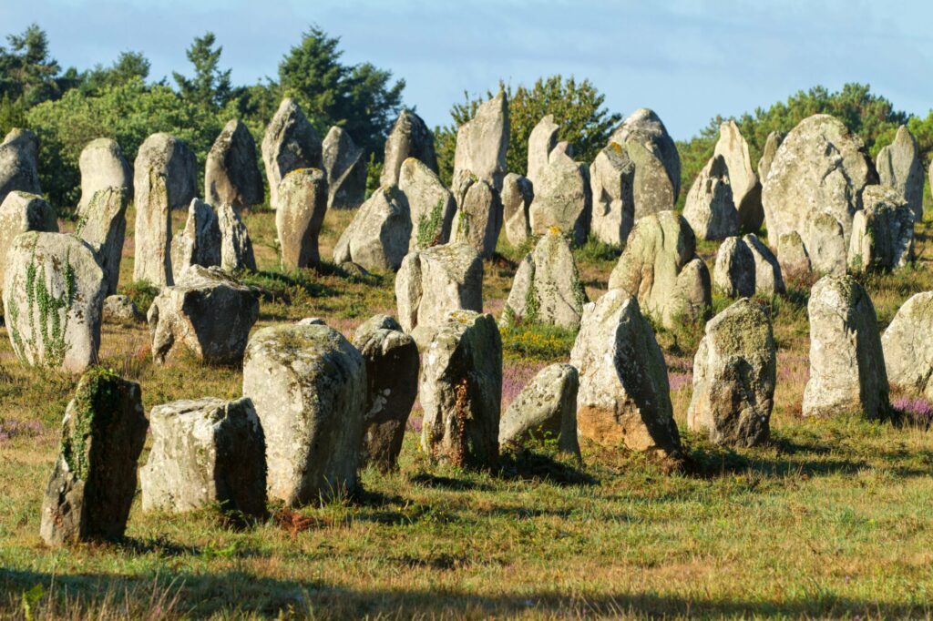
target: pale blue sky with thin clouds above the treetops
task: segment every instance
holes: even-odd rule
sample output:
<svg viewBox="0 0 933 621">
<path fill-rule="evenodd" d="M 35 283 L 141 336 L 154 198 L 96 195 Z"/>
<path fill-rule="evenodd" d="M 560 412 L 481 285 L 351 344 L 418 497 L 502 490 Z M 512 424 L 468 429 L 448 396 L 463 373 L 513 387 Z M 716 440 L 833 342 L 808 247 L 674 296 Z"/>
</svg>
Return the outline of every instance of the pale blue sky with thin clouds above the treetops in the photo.
<svg viewBox="0 0 933 621">
<path fill-rule="evenodd" d="M 216 33 L 238 83 L 275 76 L 316 23 L 348 62 L 404 77 L 429 125 L 453 102 L 554 73 L 588 77 L 627 115 L 654 108 L 675 138 L 815 84 L 868 82 L 898 108 L 933 107 L 933 3 L 868 0 L 0 0 L 0 33 L 35 21 L 63 65 L 143 51 L 152 76 L 188 71 L 185 48 Z"/>
</svg>

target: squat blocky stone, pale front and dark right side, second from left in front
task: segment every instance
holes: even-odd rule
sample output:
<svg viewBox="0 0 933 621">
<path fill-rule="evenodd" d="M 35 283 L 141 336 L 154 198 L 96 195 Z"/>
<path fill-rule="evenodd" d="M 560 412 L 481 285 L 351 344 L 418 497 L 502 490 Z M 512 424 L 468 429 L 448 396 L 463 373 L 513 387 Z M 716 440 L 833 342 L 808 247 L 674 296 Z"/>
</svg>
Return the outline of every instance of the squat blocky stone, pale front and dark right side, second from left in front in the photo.
<svg viewBox="0 0 933 621">
<path fill-rule="evenodd" d="M 152 450 L 139 470 L 143 511 L 219 504 L 266 515 L 266 442 L 253 402 L 186 399 L 149 411 Z"/>
</svg>

